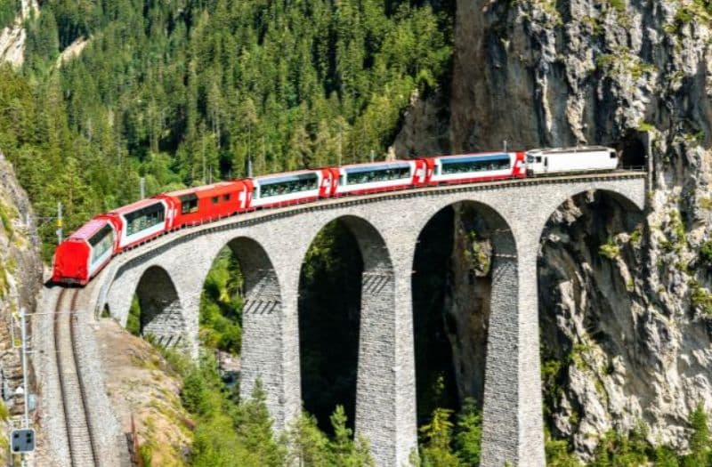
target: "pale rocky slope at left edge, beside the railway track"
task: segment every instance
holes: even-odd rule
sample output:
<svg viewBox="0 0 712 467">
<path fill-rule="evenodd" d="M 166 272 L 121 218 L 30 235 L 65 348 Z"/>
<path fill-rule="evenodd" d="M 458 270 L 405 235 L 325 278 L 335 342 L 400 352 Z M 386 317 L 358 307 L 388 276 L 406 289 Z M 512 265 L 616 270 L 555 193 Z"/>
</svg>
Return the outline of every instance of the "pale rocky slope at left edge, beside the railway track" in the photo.
<svg viewBox="0 0 712 467">
<path fill-rule="evenodd" d="M 22 410 L 22 397 L 15 395 L 22 386 L 22 366 L 20 351 L 13 348 L 12 333 L 19 341 L 20 331 L 14 320 L 22 308 L 35 310 L 42 284 L 38 245 L 28 197 L 0 153 L 0 396 L 11 413 Z"/>
</svg>

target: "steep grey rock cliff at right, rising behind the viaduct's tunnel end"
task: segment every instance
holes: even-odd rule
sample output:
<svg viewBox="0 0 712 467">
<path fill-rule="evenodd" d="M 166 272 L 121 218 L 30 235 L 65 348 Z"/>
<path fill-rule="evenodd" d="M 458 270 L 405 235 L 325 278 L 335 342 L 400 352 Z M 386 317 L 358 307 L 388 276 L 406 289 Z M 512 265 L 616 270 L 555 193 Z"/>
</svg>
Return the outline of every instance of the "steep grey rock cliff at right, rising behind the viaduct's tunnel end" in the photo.
<svg viewBox="0 0 712 467">
<path fill-rule="evenodd" d="M 712 410 L 709 24 L 695 2 L 458 1 L 449 104 L 417 102 L 397 139 L 421 154 L 443 133 L 452 152 L 606 144 L 648 165 L 645 213 L 577 197 L 541 240 L 547 423 L 584 459 L 596 435 L 641 421 L 651 442 L 684 449 L 691 409 Z M 457 284 L 468 268 L 454 254 Z M 451 291 L 457 323 L 481 316 L 466 288 Z M 467 358 L 473 343 L 452 342 Z"/>
</svg>

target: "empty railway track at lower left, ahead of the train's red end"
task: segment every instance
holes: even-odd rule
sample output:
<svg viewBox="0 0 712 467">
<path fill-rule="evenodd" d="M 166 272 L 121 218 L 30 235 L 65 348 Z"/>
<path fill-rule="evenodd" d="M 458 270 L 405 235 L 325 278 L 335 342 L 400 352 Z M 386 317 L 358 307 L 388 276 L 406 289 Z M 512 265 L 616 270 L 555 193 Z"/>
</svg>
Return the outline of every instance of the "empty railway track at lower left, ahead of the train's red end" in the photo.
<svg viewBox="0 0 712 467">
<path fill-rule="evenodd" d="M 69 464 L 99 466 L 93 437 L 85 383 L 79 369 L 77 341 L 77 298 L 79 289 L 62 288 L 54 309 L 54 355 L 60 379 L 64 423 L 67 428 Z"/>
</svg>

